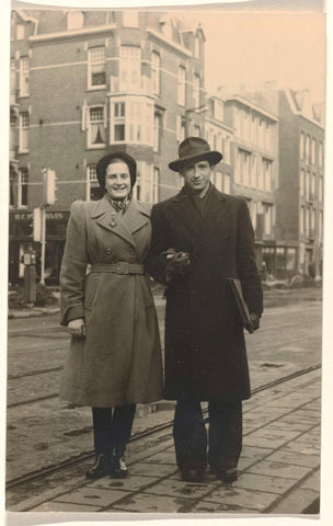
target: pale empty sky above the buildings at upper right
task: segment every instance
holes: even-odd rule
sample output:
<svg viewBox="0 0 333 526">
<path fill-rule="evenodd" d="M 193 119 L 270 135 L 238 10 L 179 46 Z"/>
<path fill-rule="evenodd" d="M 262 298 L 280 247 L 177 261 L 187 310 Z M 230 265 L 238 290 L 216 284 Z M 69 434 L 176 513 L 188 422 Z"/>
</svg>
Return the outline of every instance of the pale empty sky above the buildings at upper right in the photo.
<svg viewBox="0 0 333 526">
<path fill-rule="evenodd" d="M 184 14 L 183 14 L 184 13 Z M 205 9 L 184 21 L 203 25 L 206 43 L 206 89 L 237 92 L 277 81 L 295 90 L 308 88 L 313 102 L 324 101 L 325 18 L 322 13 L 228 12 Z"/>
</svg>

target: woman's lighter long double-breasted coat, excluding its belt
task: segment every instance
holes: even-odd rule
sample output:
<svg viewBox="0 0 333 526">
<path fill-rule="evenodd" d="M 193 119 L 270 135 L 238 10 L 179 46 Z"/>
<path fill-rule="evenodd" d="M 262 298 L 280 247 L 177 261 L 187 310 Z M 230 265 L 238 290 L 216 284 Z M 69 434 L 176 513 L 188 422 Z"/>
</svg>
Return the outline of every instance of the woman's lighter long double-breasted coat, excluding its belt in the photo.
<svg viewBox="0 0 333 526">
<path fill-rule="evenodd" d="M 60 397 L 80 405 L 147 403 L 162 397 L 159 328 L 148 279 L 88 272 L 88 265 L 141 263 L 150 213 L 131 202 L 124 217 L 106 197 L 74 202 L 61 264 L 61 324 L 84 318 L 87 338 L 71 339 Z"/>
</svg>

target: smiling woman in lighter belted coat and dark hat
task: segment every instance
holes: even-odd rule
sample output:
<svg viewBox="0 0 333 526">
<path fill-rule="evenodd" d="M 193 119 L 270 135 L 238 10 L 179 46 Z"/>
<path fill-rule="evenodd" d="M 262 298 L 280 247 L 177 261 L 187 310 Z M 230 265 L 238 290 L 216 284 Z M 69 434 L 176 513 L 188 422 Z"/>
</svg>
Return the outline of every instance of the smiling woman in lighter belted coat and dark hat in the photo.
<svg viewBox="0 0 333 526">
<path fill-rule="evenodd" d="M 105 195 L 72 204 L 60 272 L 61 324 L 72 336 L 60 397 L 92 408 L 90 479 L 127 476 L 136 403 L 162 398 L 158 320 L 142 270 L 150 213 L 131 198 L 136 162 L 110 153 L 96 173 Z"/>
</svg>

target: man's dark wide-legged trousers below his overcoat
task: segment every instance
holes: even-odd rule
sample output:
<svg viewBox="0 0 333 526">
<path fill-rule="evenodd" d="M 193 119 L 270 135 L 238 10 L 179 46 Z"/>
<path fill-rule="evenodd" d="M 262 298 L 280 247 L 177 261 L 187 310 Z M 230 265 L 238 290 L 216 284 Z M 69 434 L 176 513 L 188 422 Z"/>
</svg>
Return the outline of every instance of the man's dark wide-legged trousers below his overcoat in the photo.
<svg viewBox="0 0 333 526">
<path fill-rule="evenodd" d="M 177 399 L 173 437 L 180 469 L 236 468 L 242 449 L 242 402 L 210 400 L 209 432 L 203 419 L 200 400 L 192 395 Z M 208 442 L 208 455 L 207 455 Z"/>
</svg>

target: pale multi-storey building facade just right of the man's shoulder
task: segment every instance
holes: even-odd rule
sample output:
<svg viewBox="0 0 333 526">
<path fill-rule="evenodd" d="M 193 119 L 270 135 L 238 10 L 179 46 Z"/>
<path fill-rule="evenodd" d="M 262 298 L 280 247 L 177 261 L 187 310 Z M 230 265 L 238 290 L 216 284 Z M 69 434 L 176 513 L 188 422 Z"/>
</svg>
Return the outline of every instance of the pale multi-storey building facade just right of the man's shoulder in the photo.
<svg viewBox="0 0 333 526">
<path fill-rule="evenodd" d="M 227 98 L 225 119 L 234 129 L 230 191 L 246 199 L 255 232 L 257 267 L 275 248 L 278 186 L 278 117 L 244 95 Z M 275 268 L 271 270 L 275 275 Z"/>
</svg>

